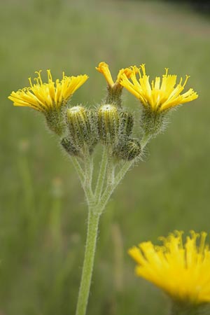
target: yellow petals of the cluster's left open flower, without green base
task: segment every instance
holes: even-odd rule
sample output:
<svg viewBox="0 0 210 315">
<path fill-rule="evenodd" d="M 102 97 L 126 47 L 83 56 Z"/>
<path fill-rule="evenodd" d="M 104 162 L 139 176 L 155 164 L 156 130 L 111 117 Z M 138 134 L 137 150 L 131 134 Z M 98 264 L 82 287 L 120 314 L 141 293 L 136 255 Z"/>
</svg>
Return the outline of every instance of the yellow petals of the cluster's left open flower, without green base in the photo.
<svg viewBox="0 0 210 315">
<path fill-rule="evenodd" d="M 53 109 L 59 109 L 65 105 L 71 95 L 87 80 L 88 76 L 65 76 L 62 80 L 52 80 L 50 70 L 48 72 L 48 83 L 43 83 L 41 71 L 37 71 L 36 84 L 31 83 L 17 92 L 11 92 L 8 99 L 14 102 L 15 106 L 29 106 L 36 111 L 48 113 Z"/>
</svg>

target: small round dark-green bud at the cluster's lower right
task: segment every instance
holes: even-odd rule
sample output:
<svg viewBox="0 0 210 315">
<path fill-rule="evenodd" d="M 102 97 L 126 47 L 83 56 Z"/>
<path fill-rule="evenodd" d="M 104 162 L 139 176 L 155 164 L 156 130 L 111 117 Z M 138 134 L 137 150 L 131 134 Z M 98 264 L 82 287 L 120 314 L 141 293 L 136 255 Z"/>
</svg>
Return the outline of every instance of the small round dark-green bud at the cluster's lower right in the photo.
<svg viewBox="0 0 210 315">
<path fill-rule="evenodd" d="M 141 145 L 136 139 L 127 139 L 118 146 L 113 151 L 113 155 L 116 158 L 131 161 L 137 158 L 141 153 Z"/>
</svg>

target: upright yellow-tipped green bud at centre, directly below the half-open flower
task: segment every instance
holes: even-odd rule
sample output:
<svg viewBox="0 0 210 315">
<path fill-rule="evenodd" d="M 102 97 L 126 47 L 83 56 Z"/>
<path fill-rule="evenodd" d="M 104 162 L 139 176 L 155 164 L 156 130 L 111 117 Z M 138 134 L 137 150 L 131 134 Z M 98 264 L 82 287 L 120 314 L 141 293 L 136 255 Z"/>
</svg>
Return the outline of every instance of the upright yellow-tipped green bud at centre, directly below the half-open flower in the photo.
<svg viewBox="0 0 210 315">
<path fill-rule="evenodd" d="M 103 144 L 117 144 L 119 132 L 119 113 L 116 106 L 106 104 L 99 107 L 98 128 L 99 138 Z"/>
</svg>

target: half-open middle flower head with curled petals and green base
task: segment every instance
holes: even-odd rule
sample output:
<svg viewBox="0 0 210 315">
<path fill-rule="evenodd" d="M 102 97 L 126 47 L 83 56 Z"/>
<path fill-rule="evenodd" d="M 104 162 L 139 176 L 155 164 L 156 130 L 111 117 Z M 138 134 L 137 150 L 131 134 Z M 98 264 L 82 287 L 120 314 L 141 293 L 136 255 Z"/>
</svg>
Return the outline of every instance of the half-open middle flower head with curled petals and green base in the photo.
<svg viewBox="0 0 210 315">
<path fill-rule="evenodd" d="M 121 106 L 120 97 L 123 90 L 123 85 L 120 85 L 120 81 L 123 78 L 123 74 L 125 74 L 127 78 L 130 78 L 130 75 L 132 74 L 132 69 L 130 68 L 120 69 L 115 82 L 113 81 L 113 78 L 111 76 L 109 65 L 106 64 L 106 62 L 100 62 L 99 65 L 96 67 L 96 69 L 97 71 L 102 73 L 104 75 L 104 78 L 106 79 L 107 90 L 108 90 L 106 103 L 115 104 L 116 106 L 120 107 Z"/>
</svg>

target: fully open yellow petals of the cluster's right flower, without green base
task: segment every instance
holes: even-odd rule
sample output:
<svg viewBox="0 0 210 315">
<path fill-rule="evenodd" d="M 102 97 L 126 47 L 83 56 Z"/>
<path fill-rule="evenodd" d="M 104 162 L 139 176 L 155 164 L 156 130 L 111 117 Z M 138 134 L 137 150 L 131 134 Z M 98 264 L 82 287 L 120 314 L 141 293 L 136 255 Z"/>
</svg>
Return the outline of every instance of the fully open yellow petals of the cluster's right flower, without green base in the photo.
<svg viewBox="0 0 210 315">
<path fill-rule="evenodd" d="M 139 80 L 137 80 L 137 73 L 139 73 Z M 181 78 L 176 85 L 176 75 L 168 74 L 168 69 L 166 69 L 165 74 L 162 75 L 162 82 L 160 77 L 156 77 L 155 80 L 152 80 L 152 83 L 150 83 L 149 76 L 146 75 L 144 64 L 141 64 L 139 69 L 137 66 L 133 66 L 130 78 L 132 82 L 129 80 L 126 73 L 123 73 L 120 84 L 134 94 L 137 99 L 140 99 L 146 109 L 154 112 L 167 111 L 174 106 L 193 101 L 193 99 L 197 99 L 198 97 L 197 93 L 192 88 L 181 94 L 189 76 L 186 76 L 184 83 L 182 83 L 183 78 Z"/>
</svg>

